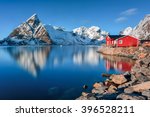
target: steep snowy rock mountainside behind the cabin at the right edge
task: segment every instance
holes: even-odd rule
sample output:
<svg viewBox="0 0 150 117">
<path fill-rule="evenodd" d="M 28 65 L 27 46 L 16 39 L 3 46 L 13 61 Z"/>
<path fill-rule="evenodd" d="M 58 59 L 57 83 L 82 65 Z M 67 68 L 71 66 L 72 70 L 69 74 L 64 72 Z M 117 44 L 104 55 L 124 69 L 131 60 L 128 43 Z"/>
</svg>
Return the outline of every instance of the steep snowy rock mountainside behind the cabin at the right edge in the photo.
<svg viewBox="0 0 150 117">
<path fill-rule="evenodd" d="M 150 40 L 150 14 L 140 21 L 130 35 L 140 40 Z"/>
</svg>

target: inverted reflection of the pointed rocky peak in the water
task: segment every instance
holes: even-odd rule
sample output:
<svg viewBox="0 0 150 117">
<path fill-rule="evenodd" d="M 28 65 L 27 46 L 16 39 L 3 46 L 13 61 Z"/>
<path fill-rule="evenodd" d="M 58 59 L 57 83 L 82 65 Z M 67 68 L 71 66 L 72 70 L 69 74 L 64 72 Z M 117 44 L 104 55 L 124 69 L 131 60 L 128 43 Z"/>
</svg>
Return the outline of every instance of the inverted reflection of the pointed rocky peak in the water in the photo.
<svg viewBox="0 0 150 117">
<path fill-rule="evenodd" d="M 50 47 L 8 48 L 7 51 L 22 68 L 36 77 L 48 60 Z"/>
</svg>

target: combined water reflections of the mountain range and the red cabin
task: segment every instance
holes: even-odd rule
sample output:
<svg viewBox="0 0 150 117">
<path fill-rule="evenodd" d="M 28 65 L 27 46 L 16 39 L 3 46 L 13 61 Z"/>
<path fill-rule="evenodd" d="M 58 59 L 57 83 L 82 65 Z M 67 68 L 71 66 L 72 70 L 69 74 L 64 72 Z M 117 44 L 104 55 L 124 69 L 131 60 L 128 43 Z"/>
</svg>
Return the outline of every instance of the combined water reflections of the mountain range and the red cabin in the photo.
<svg viewBox="0 0 150 117">
<path fill-rule="evenodd" d="M 97 47 L 76 46 L 45 46 L 45 47 L 12 47 L 7 48 L 11 57 L 25 70 L 37 77 L 46 64 L 50 67 L 60 67 L 66 64 L 97 66 L 104 60 L 106 70 L 130 71 L 134 61 L 125 57 L 99 55 Z"/>
</svg>

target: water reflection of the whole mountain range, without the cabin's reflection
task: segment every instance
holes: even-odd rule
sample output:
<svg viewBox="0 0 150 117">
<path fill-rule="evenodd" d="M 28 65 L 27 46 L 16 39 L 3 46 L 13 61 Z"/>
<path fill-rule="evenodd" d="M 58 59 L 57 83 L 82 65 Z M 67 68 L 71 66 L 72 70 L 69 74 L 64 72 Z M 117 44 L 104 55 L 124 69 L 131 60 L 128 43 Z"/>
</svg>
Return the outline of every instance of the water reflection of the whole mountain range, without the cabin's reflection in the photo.
<svg viewBox="0 0 150 117">
<path fill-rule="evenodd" d="M 44 46 L 44 47 L 8 47 L 6 49 L 10 56 L 24 70 L 37 77 L 39 72 L 47 66 L 63 66 L 65 64 L 76 65 L 98 65 L 99 55 L 96 53 L 97 47 L 76 46 Z"/>
</svg>

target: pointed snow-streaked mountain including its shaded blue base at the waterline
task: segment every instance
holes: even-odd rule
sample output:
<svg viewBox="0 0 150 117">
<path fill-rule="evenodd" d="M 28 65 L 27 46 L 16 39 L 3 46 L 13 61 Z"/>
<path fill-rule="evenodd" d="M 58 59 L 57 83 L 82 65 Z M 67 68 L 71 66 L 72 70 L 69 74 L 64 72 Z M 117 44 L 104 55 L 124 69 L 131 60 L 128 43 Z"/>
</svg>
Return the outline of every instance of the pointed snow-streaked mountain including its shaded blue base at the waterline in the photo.
<svg viewBox="0 0 150 117">
<path fill-rule="evenodd" d="M 36 14 L 15 28 L 5 40 L 6 45 L 51 44 L 50 35 Z"/>
</svg>

